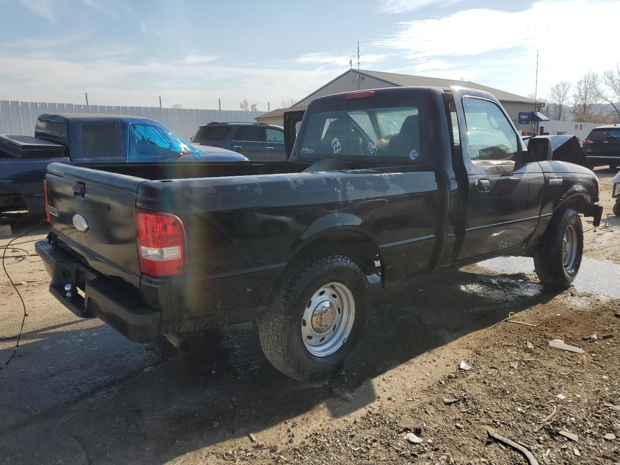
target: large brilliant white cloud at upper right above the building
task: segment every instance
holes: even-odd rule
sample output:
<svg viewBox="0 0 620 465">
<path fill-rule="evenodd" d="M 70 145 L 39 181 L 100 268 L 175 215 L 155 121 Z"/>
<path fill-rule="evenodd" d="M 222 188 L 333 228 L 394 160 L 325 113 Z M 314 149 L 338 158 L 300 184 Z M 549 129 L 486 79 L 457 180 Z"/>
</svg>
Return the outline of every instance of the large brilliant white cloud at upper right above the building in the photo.
<svg viewBox="0 0 620 465">
<path fill-rule="evenodd" d="M 443 62 L 426 68 L 521 94 L 534 92 L 539 50 L 538 88 L 544 93 L 558 81 L 577 82 L 587 71 L 601 73 L 620 60 L 610 53 L 618 42 L 618 17 L 618 1 L 541 1 L 516 12 L 470 9 L 401 22 L 396 33 L 374 45 L 418 63 L 412 74 L 430 75 L 421 63 Z M 584 24 L 596 25 L 595 40 L 576 33 Z"/>
</svg>

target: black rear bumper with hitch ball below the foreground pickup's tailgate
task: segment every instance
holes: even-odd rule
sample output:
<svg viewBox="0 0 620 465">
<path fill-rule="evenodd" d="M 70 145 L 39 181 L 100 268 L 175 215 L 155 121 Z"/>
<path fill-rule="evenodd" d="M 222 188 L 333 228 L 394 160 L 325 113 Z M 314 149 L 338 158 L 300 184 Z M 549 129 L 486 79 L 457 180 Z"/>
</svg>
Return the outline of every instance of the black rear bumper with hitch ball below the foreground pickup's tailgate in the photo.
<svg viewBox="0 0 620 465">
<path fill-rule="evenodd" d="M 144 309 L 135 287 L 97 272 L 48 239 L 38 241 L 35 250 L 51 277 L 50 293 L 71 312 L 81 318 L 97 317 L 134 342 L 155 339 L 161 313 Z M 83 295 L 73 291 L 68 296 L 64 292 L 68 284 Z"/>
</svg>

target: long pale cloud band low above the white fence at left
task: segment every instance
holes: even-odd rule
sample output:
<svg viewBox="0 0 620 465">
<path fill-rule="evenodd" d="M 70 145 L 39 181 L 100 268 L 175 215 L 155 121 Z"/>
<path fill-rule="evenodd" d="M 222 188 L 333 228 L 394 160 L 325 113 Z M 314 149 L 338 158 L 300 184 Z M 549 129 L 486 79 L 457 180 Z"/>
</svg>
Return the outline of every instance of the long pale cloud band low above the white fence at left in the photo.
<svg viewBox="0 0 620 465">
<path fill-rule="evenodd" d="M 159 60 L 82 63 L 0 55 L 4 69 L 11 70 L 10 76 L 0 76 L 0 89 L 12 100 L 75 103 L 81 103 L 88 92 L 91 104 L 104 105 L 154 105 L 161 95 L 164 102 L 182 102 L 184 108 L 216 108 L 219 98 L 224 109 L 234 109 L 247 98 L 267 110 L 267 102 L 274 108 L 283 95 L 301 99 L 342 72 L 333 67 L 308 71 L 292 65 L 260 68 L 193 60 L 185 57 L 170 66 L 169 61 Z M 63 78 L 50 80 L 49 76 Z"/>
</svg>

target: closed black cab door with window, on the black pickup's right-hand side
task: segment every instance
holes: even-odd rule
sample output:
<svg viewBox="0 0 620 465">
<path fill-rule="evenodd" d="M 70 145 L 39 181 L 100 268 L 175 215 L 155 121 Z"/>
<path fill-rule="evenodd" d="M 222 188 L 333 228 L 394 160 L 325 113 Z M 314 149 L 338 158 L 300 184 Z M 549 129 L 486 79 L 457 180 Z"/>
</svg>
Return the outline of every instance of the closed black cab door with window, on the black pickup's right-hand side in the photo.
<svg viewBox="0 0 620 465">
<path fill-rule="evenodd" d="M 461 91 L 462 92 L 462 91 Z M 498 102 L 462 95 L 456 105 L 467 167 L 464 239 L 456 261 L 529 241 L 539 220 L 544 178 Z"/>
</svg>

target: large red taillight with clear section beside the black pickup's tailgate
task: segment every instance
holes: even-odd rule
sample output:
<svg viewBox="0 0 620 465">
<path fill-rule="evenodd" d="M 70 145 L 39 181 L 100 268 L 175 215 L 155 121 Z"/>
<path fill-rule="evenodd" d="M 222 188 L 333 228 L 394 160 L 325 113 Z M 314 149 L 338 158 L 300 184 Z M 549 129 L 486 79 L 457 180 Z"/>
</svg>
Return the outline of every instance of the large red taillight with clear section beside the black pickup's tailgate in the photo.
<svg viewBox="0 0 620 465">
<path fill-rule="evenodd" d="M 178 275 L 183 270 L 185 229 L 172 213 L 136 208 L 136 239 L 144 275 Z"/>
</svg>

